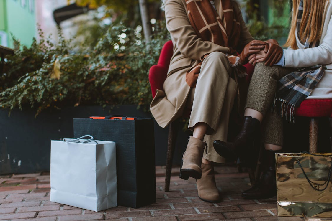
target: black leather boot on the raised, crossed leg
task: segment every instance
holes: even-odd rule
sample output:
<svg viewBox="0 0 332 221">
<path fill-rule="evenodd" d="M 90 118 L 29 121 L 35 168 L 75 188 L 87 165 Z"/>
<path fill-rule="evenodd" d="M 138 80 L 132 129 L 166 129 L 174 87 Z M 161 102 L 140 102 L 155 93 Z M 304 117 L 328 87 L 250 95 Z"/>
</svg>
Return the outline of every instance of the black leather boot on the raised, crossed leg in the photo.
<svg viewBox="0 0 332 221">
<path fill-rule="evenodd" d="M 228 159 L 240 158 L 241 163 L 249 164 L 255 161 L 254 142 L 259 141 L 260 122 L 256 118 L 244 117 L 240 133 L 233 142 L 214 140 L 213 147 L 222 157 Z"/>
</svg>

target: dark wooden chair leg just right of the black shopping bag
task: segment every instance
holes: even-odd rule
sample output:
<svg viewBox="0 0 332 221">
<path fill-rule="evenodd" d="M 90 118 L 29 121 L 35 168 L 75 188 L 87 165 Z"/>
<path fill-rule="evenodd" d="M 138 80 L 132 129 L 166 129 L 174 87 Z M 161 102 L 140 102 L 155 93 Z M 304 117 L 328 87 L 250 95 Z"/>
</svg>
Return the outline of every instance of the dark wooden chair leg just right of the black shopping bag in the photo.
<svg viewBox="0 0 332 221">
<path fill-rule="evenodd" d="M 179 120 L 170 123 L 168 131 L 166 174 L 165 174 L 165 192 L 169 192 L 169 184 L 171 182 L 172 164 L 176 138 L 178 136 Z"/>
</svg>

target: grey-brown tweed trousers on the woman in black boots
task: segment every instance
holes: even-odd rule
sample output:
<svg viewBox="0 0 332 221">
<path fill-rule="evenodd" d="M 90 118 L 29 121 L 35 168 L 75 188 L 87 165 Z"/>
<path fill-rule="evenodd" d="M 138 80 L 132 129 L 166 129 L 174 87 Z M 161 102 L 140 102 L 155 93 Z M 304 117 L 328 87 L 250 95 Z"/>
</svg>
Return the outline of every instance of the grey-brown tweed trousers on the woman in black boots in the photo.
<svg viewBox="0 0 332 221">
<path fill-rule="evenodd" d="M 283 119 L 274 108 L 275 94 L 278 81 L 294 71 L 293 68 L 284 68 L 278 65 L 265 66 L 257 63 L 252 75 L 245 108 L 252 108 L 263 114 L 262 141 L 283 146 Z"/>
</svg>

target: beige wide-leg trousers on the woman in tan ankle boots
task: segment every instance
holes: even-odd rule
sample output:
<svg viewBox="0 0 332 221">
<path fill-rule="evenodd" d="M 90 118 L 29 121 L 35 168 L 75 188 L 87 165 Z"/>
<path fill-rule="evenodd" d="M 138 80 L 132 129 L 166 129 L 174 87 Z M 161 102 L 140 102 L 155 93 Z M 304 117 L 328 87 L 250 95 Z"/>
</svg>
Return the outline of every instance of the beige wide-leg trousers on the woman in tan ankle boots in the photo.
<svg viewBox="0 0 332 221">
<path fill-rule="evenodd" d="M 230 78 L 232 68 L 225 54 L 210 53 L 203 61 L 196 88 L 191 88 L 186 106 L 191 108 L 189 129 L 199 122 L 207 123 L 209 129 L 204 141 L 207 153 L 204 158 L 222 163 L 221 157 L 213 148 L 213 141 L 227 140 L 229 115 L 237 95 L 237 84 Z"/>
</svg>

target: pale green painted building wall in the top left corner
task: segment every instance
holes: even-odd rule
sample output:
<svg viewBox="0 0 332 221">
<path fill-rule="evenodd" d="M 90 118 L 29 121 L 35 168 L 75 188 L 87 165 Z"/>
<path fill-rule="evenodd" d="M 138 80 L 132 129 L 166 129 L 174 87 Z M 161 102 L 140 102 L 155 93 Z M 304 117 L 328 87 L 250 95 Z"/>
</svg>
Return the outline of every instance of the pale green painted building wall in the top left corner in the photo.
<svg viewBox="0 0 332 221">
<path fill-rule="evenodd" d="M 37 33 L 35 0 L 0 0 L 0 31 L 7 33 L 8 47 L 13 47 L 11 33 L 30 46 Z"/>
</svg>

